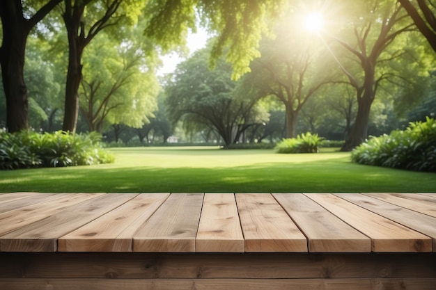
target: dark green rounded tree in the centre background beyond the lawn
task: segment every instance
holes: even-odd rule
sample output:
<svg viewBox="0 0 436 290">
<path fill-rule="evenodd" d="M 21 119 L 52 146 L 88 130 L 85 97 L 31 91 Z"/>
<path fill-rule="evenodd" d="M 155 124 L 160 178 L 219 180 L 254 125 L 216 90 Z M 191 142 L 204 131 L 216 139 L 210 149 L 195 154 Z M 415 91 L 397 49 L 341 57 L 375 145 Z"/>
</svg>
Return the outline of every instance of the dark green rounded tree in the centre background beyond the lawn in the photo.
<svg viewBox="0 0 436 290">
<path fill-rule="evenodd" d="M 256 108 L 256 96 L 238 94 L 230 65 L 219 60 L 216 69 L 209 70 L 208 54 L 202 49 L 178 66 L 166 87 L 169 117 L 173 123 L 203 124 L 230 145 L 266 116 Z"/>
</svg>

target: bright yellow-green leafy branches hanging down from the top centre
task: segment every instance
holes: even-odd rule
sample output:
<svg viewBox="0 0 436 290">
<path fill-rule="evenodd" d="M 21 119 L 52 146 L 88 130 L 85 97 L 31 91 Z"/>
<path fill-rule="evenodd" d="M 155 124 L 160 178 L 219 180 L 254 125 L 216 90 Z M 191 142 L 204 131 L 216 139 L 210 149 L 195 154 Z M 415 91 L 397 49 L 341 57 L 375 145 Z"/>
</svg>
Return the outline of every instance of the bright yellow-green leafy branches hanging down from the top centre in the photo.
<svg viewBox="0 0 436 290">
<path fill-rule="evenodd" d="M 260 56 L 258 42 L 287 6 L 288 0 L 154 0 L 146 8 L 149 21 L 145 34 L 168 51 L 183 44 L 188 29 L 195 31 L 199 22 L 217 35 L 211 49 L 211 65 L 228 47 L 226 61 L 233 64 L 233 79 L 238 79 L 249 72 L 250 62 Z"/>
</svg>

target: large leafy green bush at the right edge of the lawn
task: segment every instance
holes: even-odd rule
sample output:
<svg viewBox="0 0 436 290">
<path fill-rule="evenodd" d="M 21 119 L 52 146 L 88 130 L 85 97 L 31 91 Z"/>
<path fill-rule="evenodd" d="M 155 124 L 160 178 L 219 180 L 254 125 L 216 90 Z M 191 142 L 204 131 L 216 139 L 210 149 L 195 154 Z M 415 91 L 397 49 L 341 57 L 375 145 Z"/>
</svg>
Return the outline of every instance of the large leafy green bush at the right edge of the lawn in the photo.
<svg viewBox="0 0 436 290">
<path fill-rule="evenodd" d="M 436 121 L 410 123 L 405 131 L 371 138 L 355 148 L 352 161 L 360 164 L 436 172 Z"/>
</svg>

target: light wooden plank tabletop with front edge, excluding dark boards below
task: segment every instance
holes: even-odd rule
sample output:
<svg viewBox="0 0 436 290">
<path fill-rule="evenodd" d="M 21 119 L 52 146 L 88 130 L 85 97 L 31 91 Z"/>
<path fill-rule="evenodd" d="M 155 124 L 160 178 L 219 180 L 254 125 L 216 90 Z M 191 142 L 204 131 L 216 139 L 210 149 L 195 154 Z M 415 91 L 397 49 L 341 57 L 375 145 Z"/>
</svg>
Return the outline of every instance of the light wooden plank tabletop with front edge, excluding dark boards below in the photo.
<svg viewBox="0 0 436 290">
<path fill-rule="evenodd" d="M 0 252 L 436 252 L 436 193 L 0 193 Z"/>
</svg>

